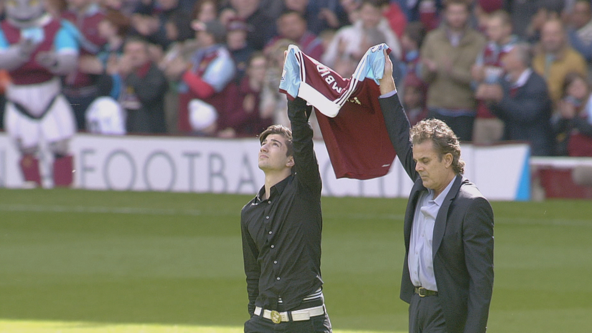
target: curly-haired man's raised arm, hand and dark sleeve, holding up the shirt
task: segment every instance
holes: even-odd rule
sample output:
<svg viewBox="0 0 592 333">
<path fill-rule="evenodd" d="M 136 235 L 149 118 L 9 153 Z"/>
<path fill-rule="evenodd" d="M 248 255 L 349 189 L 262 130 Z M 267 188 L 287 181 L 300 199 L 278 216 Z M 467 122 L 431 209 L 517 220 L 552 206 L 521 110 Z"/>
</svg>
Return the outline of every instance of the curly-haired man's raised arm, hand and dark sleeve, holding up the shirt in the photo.
<svg viewBox="0 0 592 333">
<path fill-rule="evenodd" d="M 413 151 L 409 140 L 409 129 L 411 128 L 407 115 L 403 110 L 403 105 L 399 101 L 395 81 L 392 79 L 392 62 L 385 55 L 384 75 L 379 80 L 380 94 L 379 98 L 384 123 L 387 125 L 388 137 L 391 139 L 392 146 L 397 152 L 397 156 L 411 180 L 415 181 L 419 175 L 415 171 L 415 161 L 413 161 Z"/>
</svg>

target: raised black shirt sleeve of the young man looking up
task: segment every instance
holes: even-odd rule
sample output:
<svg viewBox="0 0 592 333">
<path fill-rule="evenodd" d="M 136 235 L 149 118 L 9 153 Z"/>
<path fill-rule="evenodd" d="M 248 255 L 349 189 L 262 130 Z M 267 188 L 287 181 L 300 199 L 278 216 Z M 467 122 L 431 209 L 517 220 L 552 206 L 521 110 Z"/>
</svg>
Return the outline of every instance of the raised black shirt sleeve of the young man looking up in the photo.
<svg viewBox="0 0 592 333">
<path fill-rule="evenodd" d="M 317 156 L 313 148 L 313 128 L 308 123 L 312 107 L 300 97 L 288 100 L 288 118 L 292 126 L 294 145 L 294 170 L 300 184 L 314 193 L 321 192 L 321 174 L 318 172 Z"/>
</svg>

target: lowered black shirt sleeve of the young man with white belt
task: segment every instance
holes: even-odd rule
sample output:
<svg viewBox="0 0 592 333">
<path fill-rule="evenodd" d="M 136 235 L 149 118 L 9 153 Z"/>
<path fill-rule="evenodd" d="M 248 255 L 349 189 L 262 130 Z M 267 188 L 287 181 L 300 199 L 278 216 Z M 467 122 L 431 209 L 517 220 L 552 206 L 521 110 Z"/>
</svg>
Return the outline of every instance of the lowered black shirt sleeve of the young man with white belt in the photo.
<svg viewBox="0 0 592 333">
<path fill-rule="evenodd" d="M 244 274 L 247 277 L 247 294 L 249 295 L 249 315 L 253 316 L 255 313 L 255 300 L 259 296 L 259 277 L 261 276 L 261 269 L 257 258 L 259 257 L 259 250 L 255 242 L 249 234 L 246 221 L 241 217 L 240 229 L 243 239 L 243 261 Z"/>
</svg>

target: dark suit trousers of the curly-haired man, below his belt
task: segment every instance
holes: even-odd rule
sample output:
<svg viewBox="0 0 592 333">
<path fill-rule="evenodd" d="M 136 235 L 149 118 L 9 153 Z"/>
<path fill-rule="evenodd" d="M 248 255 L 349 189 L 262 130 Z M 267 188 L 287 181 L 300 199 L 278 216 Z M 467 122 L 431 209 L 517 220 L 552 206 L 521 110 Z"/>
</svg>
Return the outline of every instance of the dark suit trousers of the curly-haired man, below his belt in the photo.
<svg viewBox="0 0 592 333">
<path fill-rule="evenodd" d="M 409 305 L 409 333 L 446 333 L 438 296 L 413 295 Z"/>
</svg>

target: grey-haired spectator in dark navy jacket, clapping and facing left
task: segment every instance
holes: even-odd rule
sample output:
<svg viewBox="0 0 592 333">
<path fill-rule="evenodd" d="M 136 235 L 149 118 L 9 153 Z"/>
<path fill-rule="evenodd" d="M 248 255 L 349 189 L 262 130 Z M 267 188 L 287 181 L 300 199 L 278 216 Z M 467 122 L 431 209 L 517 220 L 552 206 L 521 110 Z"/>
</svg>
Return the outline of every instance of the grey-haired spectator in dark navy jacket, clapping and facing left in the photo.
<svg viewBox="0 0 592 333">
<path fill-rule="evenodd" d="M 481 84 L 477 98 L 504 121 L 505 140 L 530 142 L 532 155 L 551 155 L 552 104 L 545 79 L 530 68 L 530 46 L 518 43 L 503 56 L 507 75 L 499 84 Z"/>
</svg>

